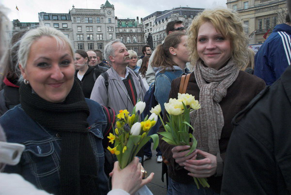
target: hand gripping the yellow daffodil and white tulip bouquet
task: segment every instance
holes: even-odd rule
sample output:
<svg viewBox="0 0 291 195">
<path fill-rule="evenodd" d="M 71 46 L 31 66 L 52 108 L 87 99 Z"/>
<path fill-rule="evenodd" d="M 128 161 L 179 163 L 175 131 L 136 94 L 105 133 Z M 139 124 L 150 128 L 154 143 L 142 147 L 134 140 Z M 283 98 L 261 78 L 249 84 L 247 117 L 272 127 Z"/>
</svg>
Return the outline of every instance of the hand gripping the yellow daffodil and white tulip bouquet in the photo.
<svg viewBox="0 0 291 195">
<path fill-rule="evenodd" d="M 114 163 L 113 171 L 109 174 L 112 177 L 112 189 L 122 189 L 129 194 L 135 193 L 138 189 L 149 183 L 154 173 L 143 179 L 141 163 L 138 158 L 134 158 L 124 169 L 120 169 L 119 163 Z"/>
</svg>

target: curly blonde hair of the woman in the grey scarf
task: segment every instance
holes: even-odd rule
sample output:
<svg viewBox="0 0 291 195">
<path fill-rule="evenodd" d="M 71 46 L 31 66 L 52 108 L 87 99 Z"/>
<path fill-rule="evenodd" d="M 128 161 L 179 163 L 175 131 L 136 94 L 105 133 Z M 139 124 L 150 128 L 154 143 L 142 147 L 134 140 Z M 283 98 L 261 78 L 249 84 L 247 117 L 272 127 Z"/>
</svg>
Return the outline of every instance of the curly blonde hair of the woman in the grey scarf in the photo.
<svg viewBox="0 0 291 195">
<path fill-rule="evenodd" d="M 232 53 L 231 58 L 238 67 L 245 64 L 247 56 L 248 37 L 243 32 L 243 23 L 239 16 L 231 10 L 217 8 L 213 10 L 204 10 L 194 17 L 191 26 L 188 28 L 187 48 L 190 51 L 190 62 L 192 65 L 200 59 L 197 52 L 197 35 L 199 28 L 205 22 L 211 22 L 216 31 L 230 39 Z"/>
</svg>

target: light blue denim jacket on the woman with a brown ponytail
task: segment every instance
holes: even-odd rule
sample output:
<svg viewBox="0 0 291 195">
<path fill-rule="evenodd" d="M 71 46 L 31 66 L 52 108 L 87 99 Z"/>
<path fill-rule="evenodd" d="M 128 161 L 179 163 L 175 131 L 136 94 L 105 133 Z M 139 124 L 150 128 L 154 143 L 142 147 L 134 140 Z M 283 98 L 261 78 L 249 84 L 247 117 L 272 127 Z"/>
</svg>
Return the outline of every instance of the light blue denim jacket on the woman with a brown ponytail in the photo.
<svg viewBox="0 0 291 195">
<path fill-rule="evenodd" d="M 189 73 L 189 70 L 186 68 L 184 71 L 177 65 L 174 65 L 174 70 L 165 70 L 165 72 L 170 72 L 173 74 L 174 78 L 177 79 L 181 77 L 185 73 Z M 155 97 L 158 103 L 161 105 L 162 114 L 164 113 L 165 106 L 164 103 L 168 101 L 169 93 L 171 90 L 171 83 L 174 80 L 171 80 L 167 75 L 163 72 L 159 74 L 160 71 L 156 73 L 156 81 L 155 81 Z"/>
</svg>

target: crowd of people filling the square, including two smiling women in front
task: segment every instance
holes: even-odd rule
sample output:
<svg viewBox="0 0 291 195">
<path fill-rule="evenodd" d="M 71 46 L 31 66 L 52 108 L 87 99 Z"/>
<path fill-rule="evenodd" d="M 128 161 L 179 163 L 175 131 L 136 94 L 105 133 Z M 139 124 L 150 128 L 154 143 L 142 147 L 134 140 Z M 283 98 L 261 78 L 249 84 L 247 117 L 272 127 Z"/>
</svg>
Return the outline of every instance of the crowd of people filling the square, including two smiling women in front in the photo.
<svg viewBox="0 0 291 195">
<path fill-rule="evenodd" d="M 115 162 L 107 173 L 106 133 L 113 129 L 106 111 L 131 113 L 154 90 L 167 122 L 164 103 L 178 97 L 183 75 L 190 75 L 186 93 L 201 105 L 190 113 L 197 146 L 186 156 L 190 146 L 160 135 L 156 156 L 167 170 L 167 195 L 290 194 L 291 43 L 284 28 L 291 28 L 289 16 L 255 56 L 234 11 L 204 10 L 187 29 L 168 22 L 162 44 L 153 52 L 143 46 L 140 59 L 119 39 L 102 53 L 74 50 L 45 26 L 14 34 L 0 56 L 0 194 L 136 193 L 154 176 L 141 172 L 151 143 L 126 168 Z M 284 52 L 268 64 L 271 39 Z M 162 131 L 157 125 L 149 134 Z M 207 178 L 210 188 L 193 177 Z"/>
</svg>

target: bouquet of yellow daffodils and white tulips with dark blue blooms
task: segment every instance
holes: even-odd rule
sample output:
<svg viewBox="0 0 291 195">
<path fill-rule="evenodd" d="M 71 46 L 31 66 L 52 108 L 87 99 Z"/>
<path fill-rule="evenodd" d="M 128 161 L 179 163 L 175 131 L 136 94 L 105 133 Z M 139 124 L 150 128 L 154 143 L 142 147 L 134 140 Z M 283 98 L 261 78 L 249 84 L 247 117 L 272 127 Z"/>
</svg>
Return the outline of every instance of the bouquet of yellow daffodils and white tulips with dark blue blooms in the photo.
<svg viewBox="0 0 291 195">
<path fill-rule="evenodd" d="M 116 128 L 114 134 L 110 133 L 109 142 L 114 147 L 108 146 L 108 150 L 115 154 L 120 168 L 125 168 L 136 156 L 138 151 L 150 140 L 153 139 L 156 149 L 159 144 L 159 136 L 153 134 L 147 136 L 149 130 L 156 124 L 158 116 L 151 114 L 149 117 L 139 122 L 140 114 L 144 112 L 146 103 L 139 101 L 136 103 L 131 114 L 127 110 L 120 110 L 117 114 Z"/>
</svg>

